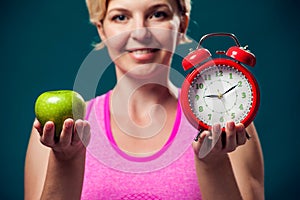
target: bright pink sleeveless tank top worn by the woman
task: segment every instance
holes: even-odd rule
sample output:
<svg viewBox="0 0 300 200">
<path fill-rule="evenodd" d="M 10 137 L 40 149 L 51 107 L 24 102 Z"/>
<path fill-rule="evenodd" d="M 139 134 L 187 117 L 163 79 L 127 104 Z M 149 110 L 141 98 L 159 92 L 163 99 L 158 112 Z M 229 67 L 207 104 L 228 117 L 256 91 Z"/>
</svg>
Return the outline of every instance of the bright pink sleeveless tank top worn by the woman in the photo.
<svg viewBox="0 0 300 200">
<path fill-rule="evenodd" d="M 134 157 L 116 145 L 110 129 L 109 94 L 91 100 L 91 125 L 83 200 L 201 199 L 192 149 L 195 130 L 178 104 L 173 131 L 164 147 L 147 157 Z"/>
</svg>

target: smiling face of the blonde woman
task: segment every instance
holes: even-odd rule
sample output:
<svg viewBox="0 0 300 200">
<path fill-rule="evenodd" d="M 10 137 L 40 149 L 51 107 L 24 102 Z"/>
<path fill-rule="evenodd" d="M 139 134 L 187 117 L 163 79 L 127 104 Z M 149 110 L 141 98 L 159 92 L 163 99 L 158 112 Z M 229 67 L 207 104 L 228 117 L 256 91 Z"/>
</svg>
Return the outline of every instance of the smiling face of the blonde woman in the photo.
<svg viewBox="0 0 300 200">
<path fill-rule="evenodd" d="M 175 0 L 110 0 L 98 32 L 117 76 L 156 74 L 169 66 L 182 30 Z"/>
</svg>

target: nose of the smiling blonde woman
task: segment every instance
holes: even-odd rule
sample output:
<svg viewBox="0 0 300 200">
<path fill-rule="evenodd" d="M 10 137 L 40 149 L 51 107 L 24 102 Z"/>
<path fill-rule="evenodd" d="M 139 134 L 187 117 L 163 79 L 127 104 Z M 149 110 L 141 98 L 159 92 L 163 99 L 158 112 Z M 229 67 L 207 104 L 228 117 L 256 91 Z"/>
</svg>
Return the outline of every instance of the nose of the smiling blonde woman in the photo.
<svg viewBox="0 0 300 200">
<path fill-rule="evenodd" d="M 151 38 L 150 30 L 145 25 L 144 20 L 137 20 L 135 22 L 135 27 L 133 27 L 131 37 L 138 41 L 147 41 Z"/>
</svg>

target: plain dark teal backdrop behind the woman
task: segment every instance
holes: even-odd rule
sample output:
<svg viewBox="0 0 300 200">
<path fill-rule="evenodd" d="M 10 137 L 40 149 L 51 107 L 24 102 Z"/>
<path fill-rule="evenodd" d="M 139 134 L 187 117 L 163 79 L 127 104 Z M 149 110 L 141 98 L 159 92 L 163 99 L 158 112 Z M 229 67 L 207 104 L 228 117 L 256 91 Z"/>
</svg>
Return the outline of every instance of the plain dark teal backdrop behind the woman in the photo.
<svg viewBox="0 0 300 200">
<path fill-rule="evenodd" d="M 266 199 L 296 199 L 299 194 L 299 8 L 296 0 L 193 1 L 189 36 L 198 40 L 209 32 L 233 32 L 257 57 L 251 71 L 262 95 L 255 122 L 264 153 Z M 6 1 L 0 15 L 0 199 L 23 199 L 34 101 L 45 90 L 72 89 L 98 39 L 85 1 Z M 113 70 L 106 73 L 99 93 L 113 85 Z"/>
</svg>

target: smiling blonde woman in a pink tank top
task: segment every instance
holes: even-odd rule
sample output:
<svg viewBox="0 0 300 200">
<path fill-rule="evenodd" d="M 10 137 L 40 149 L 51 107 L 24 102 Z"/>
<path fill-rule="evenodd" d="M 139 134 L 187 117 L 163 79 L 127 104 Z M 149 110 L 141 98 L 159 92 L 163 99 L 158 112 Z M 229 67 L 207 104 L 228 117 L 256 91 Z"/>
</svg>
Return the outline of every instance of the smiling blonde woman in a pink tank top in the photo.
<svg viewBox="0 0 300 200">
<path fill-rule="evenodd" d="M 87 6 L 117 84 L 88 102 L 86 120 L 67 119 L 59 142 L 52 122 L 43 128 L 34 122 L 25 199 L 263 199 L 253 123 L 227 122 L 223 141 L 214 137 L 215 125 L 216 145 L 204 158 L 198 154 L 210 133 L 195 142 L 188 137 L 195 130 L 181 115 L 169 72 L 176 46 L 187 40 L 190 1 L 87 0 Z"/>
</svg>

